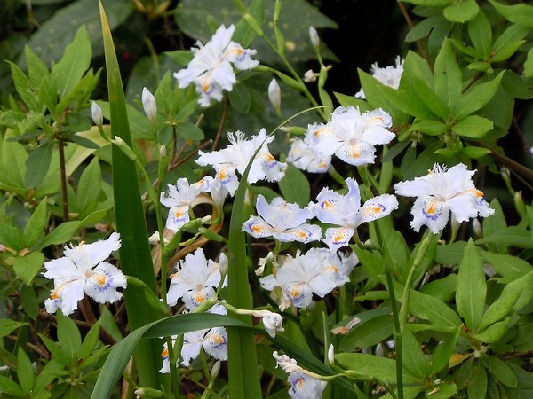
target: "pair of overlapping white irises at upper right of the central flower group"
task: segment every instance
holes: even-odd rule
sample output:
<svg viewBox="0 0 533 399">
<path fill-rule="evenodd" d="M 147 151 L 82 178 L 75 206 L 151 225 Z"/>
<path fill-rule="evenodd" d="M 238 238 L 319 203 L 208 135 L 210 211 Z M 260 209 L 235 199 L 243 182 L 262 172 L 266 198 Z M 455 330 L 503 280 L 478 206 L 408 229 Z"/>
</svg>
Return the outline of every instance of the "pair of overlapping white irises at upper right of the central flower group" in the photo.
<svg viewBox="0 0 533 399">
<path fill-rule="evenodd" d="M 292 140 L 287 161 L 313 173 L 327 171 L 333 155 L 354 166 L 374 163 L 375 145 L 388 144 L 395 137 L 388 130 L 392 123 L 381 108 L 361 113 L 359 108 L 340 106 L 330 121 L 309 125 L 303 139 Z"/>
</svg>

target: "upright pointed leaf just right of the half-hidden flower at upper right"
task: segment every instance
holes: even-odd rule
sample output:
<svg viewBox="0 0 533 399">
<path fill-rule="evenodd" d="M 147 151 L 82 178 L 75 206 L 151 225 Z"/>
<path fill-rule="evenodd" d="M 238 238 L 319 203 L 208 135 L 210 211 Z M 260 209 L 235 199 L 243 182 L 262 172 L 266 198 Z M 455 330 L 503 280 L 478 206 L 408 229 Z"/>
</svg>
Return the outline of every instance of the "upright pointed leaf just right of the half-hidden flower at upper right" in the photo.
<svg viewBox="0 0 533 399">
<path fill-rule="evenodd" d="M 435 59 L 435 92 L 449 109 L 454 109 L 463 90 L 463 74 L 457 64 L 449 40 L 442 43 L 441 51 Z"/>
</svg>

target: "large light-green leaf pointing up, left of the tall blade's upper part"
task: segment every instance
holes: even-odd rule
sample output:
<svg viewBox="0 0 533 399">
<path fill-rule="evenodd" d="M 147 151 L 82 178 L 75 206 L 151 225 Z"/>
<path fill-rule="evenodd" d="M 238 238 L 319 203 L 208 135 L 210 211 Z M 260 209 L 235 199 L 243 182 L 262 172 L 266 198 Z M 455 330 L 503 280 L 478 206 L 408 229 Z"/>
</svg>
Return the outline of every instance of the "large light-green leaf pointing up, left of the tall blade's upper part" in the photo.
<svg viewBox="0 0 533 399">
<path fill-rule="evenodd" d="M 82 25 L 72 43 L 65 48 L 60 61 L 52 66 L 52 76 L 57 82 L 60 98 L 65 97 L 84 76 L 91 64 L 91 57 L 91 41 L 87 29 Z"/>
</svg>

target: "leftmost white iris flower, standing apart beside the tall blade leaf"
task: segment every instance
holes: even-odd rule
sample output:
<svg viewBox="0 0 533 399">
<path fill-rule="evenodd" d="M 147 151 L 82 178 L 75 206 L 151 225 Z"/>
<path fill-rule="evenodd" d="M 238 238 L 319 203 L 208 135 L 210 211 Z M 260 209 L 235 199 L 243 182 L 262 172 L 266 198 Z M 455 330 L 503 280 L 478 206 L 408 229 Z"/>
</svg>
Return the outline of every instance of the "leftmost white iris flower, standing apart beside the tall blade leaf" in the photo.
<svg viewBox="0 0 533 399">
<path fill-rule="evenodd" d="M 44 262 L 43 275 L 54 282 L 50 298 L 44 301 L 46 311 L 55 313 L 61 309 L 67 316 L 77 309 L 84 293 L 99 303 L 113 303 L 122 298 L 117 288 L 126 287 L 126 277 L 111 263 L 104 262 L 120 245 L 120 234 L 114 232 L 106 240 L 65 246 L 65 256 Z"/>
</svg>

